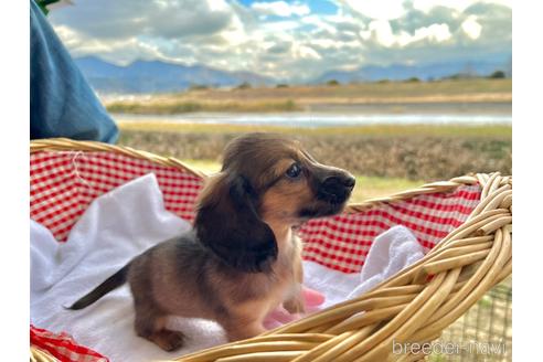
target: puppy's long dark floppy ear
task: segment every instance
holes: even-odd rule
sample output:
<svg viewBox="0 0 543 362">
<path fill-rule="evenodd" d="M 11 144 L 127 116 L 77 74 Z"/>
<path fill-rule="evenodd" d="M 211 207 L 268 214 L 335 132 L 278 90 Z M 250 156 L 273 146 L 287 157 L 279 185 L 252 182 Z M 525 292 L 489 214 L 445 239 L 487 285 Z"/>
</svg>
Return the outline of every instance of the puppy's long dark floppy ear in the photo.
<svg viewBox="0 0 543 362">
<path fill-rule="evenodd" d="M 258 216 L 257 195 L 241 175 L 222 172 L 204 189 L 194 221 L 196 236 L 223 262 L 243 272 L 269 272 L 277 258 L 272 228 Z"/>
</svg>

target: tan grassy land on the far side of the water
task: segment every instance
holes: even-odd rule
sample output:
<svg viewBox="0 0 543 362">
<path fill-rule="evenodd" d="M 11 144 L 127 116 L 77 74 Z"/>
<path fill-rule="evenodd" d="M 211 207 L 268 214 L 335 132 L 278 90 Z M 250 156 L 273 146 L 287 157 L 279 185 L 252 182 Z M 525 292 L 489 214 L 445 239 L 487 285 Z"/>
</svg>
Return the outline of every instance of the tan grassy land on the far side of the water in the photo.
<svg viewBox="0 0 543 362">
<path fill-rule="evenodd" d="M 234 89 L 198 89 L 134 99 L 104 99 L 111 113 L 294 111 L 315 105 L 511 102 L 511 79 L 384 82 Z"/>
</svg>

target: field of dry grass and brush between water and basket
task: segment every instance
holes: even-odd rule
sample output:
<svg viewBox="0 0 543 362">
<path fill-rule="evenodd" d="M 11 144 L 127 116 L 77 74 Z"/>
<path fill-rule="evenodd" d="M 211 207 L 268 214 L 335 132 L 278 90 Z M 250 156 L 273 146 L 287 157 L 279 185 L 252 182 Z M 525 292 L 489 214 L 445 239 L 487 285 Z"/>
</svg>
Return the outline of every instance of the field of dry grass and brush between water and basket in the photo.
<svg viewBox="0 0 543 362">
<path fill-rule="evenodd" d="M 510 126 L 361 126 L 285 128 L 231 125 L 120 124 L 120 143 L 179 159 L 219 162 L 224 146 L 247 131 L 299 139 L 321 162 L 369 178 L 447 180 L 469 172 L 511 173 Z M 373 181 L 377 179 L 372 179 Z M 383 181 L 384 182 L 384 181 Z M 391 181 L 392 182 L 392 181 Z M 383 190 L 383 191 L 390 191 Z"/>
</svg>

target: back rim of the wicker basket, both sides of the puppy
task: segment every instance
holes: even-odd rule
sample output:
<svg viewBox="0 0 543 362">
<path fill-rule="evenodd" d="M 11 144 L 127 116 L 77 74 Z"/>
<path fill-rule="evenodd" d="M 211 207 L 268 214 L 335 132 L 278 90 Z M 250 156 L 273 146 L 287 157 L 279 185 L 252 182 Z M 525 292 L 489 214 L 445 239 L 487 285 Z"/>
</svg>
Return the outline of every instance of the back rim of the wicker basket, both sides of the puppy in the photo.
<svg viewBox="0 0 543 362">
<path fill-rule="evenodd" d="M 104 143 L 99 141 L 81 141 L 68 138 L 45 138 L 31 140 L 30 153 L 41 151 L 93 151 L 93 152 L 113 152 L 128 157 L 147 160 L 157 164 L 177 168 L 201 179 L 206 179 L 210 174 L 198 170 L 174 157 L 163 157 L 145 150 L 134 149 L 128 146 L 118 146 Z M 396 201 L 407 200 L 417 195 L 427 193 L 444 193 L 456 190 L 461 185 L 481 184 L 482 180 L 488 179 L 487 173 L 468 173 L 456 177 L 448 181 L 437 181 L 422 184 L 418 188 L 409 189 L 393 193 L 387 196 L 372 198 L 362 202 L 349 203 L 345 206 L 345 213 L 356 213 L 363 210 L 379 206 L 383 203 L 393 203 Z"/>
</svg>

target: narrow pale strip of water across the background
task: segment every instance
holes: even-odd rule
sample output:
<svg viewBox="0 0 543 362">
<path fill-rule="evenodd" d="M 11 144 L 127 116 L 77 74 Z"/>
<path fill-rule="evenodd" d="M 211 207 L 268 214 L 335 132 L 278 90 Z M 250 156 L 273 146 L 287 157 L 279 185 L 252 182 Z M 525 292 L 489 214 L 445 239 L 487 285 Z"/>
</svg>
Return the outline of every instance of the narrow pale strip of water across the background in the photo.
<svg viewBox="0 0 543 362">
<path fill-rule="evenodd" d="M 167 121 L 172 124 L 252 125 L 287 127 L 348 127 L 363 125 L 511 125 L 511 114 L 413 113 L 278 113 L 278 114 L 182 114 L 182 115 L 114 115 L 117 121 Z"/>
</svg>

